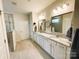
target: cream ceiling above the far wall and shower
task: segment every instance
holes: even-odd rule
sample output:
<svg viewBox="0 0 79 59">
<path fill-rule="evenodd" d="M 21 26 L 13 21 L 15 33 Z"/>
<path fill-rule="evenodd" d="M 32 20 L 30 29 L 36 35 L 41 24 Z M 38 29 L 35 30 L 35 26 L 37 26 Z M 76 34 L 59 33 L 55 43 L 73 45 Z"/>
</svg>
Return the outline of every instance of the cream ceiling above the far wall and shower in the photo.
<svg viewBox="0 0 79 59">
<path fill-rule="evenodd" d="M 53 3 L 55 0 L 12 0 L 16 7 L 16 12 L 39 12 Z"/>
</svg>

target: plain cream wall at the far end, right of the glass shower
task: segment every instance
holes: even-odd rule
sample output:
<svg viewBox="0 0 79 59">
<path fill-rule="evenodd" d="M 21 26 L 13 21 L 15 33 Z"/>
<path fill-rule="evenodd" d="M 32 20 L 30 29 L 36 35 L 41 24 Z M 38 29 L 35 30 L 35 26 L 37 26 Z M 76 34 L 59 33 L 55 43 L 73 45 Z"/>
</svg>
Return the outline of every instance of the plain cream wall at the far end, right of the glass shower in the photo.
<svg viewBox="0 0 79 59">
<path fill-rule="evenodd" d="M 29 38 L 28 18 L 25 14 L 14 14 L 15 36 L 16 41 Z"/>
</svg>

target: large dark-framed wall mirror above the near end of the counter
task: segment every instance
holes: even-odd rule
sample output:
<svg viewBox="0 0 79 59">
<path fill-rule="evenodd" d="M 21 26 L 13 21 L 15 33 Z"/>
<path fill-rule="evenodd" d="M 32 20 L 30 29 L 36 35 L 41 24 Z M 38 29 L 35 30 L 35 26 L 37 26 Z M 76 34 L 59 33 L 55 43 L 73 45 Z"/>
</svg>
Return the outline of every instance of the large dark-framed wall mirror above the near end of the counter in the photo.
<svg viewBox="0 0 79 59">
<path fill-rule="evenodd" d="M 72 26 L 73 12 L 54 16 L 51 18 L 51 32 L 59 32 L 67 34 L 67 31 Z"/>
</svg>

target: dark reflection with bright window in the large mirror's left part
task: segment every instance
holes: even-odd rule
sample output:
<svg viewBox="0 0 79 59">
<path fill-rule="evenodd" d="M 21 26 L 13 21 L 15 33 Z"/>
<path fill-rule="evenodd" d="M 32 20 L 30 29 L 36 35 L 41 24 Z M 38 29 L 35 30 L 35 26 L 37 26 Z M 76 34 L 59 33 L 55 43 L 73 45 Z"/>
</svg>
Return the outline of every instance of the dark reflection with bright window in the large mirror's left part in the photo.
<svg viewBox="0 0 79 59">
<path fill-rule="evenodd" d="M 62 33 L 62 16 L 55 16 L 51 19 L 51 31 Z"/>
</svg>

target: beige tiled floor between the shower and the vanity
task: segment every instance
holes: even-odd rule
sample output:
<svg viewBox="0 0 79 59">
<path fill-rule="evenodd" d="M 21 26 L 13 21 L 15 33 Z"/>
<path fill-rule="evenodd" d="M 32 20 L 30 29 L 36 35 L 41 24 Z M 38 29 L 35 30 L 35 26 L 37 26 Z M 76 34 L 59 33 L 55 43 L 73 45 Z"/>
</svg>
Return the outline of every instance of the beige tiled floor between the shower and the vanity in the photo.
<svg viewBox="0 0 79 59">
<path fill-rule="evenodd" d="M 11 59 L 52 59 L 40 47 L 30 40 L 17 43 L 16 51 L 11 52 Z"/>
</svg>

